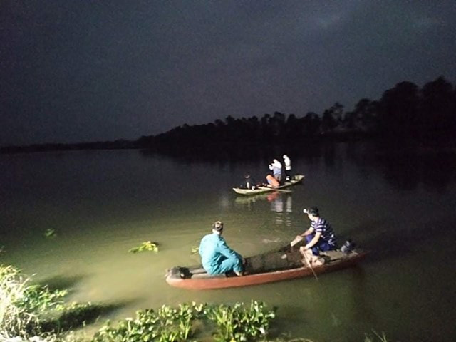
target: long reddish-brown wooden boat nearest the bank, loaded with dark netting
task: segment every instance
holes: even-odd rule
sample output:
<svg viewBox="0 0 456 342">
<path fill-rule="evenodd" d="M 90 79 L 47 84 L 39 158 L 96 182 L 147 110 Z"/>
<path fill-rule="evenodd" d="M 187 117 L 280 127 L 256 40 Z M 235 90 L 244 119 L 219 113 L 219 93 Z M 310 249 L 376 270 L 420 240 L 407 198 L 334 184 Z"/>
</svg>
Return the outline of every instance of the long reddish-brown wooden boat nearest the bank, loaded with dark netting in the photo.
<svg viewBox="0 0 456 342">
<path fill-rule="evenodd" d="M 247 258 L 245 276 L 233 274 L 210 275 L 201 265 L 181 267 L 176 266 L 168 270 L 166 281 L 171 286 L 182 289 L 204 290 L 224 289 L 228 287 L 251 286 L 271 283 L 304 276 L 316 276 L 323 272 L 336 271 L 357 264 L 366 257 L 367 252 L 354 249 L 344 253 L 340 250 L 322 252 L 324 264 L 310 266 L 304 264 L 298 248 L 289 246 Z"/>
</svg>

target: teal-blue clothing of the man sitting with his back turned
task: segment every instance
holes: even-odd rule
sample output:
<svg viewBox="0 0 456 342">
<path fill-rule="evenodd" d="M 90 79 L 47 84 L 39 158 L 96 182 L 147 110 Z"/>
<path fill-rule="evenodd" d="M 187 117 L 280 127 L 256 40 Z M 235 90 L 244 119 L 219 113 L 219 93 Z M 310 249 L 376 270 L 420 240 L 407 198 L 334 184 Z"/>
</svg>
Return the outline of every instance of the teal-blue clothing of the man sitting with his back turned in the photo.
<svg viewBox="0 0 456 342">
<path fill-rule="evenodd" d="M 242 256 L 228 247 L 227 242 L 219 234 L 207 234 L 199 244 L 199 255 L 202 266 L 210 274 L 218 274 L 219 266 L 224 259 L 238 259 L 242 264 Z M 241 271 L 236 269 L 234 271 Z"/>
</svg>

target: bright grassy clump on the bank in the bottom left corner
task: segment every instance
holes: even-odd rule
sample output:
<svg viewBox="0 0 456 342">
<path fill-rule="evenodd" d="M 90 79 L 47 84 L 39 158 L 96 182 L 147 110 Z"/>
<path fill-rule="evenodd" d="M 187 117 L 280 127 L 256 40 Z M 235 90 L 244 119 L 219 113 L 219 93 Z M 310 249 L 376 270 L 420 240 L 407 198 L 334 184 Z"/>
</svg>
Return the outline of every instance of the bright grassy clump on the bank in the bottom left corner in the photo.
<svg viewBox="0 0 456 342">
<path fill-rule="evenodd" d="M 95 321 L 100 306 L 65 304 L 67 293 L 31 284 L 19 269 L 0 265 L 0 341 L 63 341 L 71 328 Z"/>
</svg>

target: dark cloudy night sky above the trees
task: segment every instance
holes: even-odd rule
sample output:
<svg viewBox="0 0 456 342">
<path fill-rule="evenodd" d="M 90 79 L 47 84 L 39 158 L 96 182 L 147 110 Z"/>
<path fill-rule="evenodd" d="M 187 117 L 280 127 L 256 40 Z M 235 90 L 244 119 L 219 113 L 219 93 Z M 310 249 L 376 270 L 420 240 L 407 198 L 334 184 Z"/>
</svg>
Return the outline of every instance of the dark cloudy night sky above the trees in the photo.
<svg viewBox="0 0 456 342">
<path fill-rule="evenodd" d="M 0 145 L 351 110 L 438 76 L 455 0 L 0 0 Z"/>
</svg>

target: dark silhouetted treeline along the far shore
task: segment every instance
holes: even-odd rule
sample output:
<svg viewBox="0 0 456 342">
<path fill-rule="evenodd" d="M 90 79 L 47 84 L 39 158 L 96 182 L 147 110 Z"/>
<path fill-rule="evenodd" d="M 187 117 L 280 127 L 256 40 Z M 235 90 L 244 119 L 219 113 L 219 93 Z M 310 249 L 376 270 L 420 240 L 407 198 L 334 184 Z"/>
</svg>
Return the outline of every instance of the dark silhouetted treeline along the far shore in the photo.
<svg viewBox="0 0 456 342">
<path fill-rule="evenodd" d="M 143 148 L 157 152 L 182 149 L 287 144 L 306 140 L 380 138 L 388 142 L 436 143 L 456 137 L 456 89 L 442 76 L 419 88 L 403 81 L 386 90 L 380 100 L 363 98 L 345 111 L 335 103 L 320 115 L 302 117 L 275 112 L 261 118 L 233 118 L 204 125 L 182 125 L 138 140 L 3 147 L 1 152 Z"/>
</svg>

